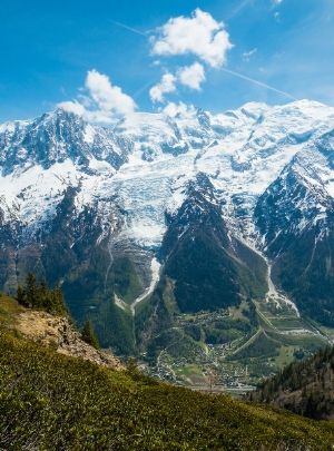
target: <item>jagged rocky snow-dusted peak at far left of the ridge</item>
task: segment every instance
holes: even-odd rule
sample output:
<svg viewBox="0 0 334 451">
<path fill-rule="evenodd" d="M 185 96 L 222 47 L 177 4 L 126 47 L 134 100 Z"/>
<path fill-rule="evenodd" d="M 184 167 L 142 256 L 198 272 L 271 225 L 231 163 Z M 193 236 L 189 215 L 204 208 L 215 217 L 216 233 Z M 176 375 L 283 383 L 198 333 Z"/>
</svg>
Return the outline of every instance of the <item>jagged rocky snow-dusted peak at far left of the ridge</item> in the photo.
<svg viewBox="0 0 334 451">
<path fill-rule="evenodd" d="M 92 159 L 106 160 L 118 169 L 127 160 L 131 146 L 110 130 L 58 108 L 31 121 L 2 126 L 0 149 L 2 174 L 9 175 L 35 165 L 48 169 L 67 159 L 85 169 Z"/>
</svg>

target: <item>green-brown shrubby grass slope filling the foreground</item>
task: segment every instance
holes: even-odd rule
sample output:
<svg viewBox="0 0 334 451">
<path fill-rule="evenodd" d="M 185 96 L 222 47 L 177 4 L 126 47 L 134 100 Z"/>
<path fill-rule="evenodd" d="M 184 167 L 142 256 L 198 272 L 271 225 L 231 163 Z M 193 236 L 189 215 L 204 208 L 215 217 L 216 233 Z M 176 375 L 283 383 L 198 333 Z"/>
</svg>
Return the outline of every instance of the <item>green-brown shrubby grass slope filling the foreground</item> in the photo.
<svg viewBox="0 0 334 451">
<path fill-rule="evenodd" d="M 334 443 L 332 423 L 42 349 L 4 327 L 18 307 L 3 297 L 0 305 L 1 449 L 325 450 Z"/>
</svg>

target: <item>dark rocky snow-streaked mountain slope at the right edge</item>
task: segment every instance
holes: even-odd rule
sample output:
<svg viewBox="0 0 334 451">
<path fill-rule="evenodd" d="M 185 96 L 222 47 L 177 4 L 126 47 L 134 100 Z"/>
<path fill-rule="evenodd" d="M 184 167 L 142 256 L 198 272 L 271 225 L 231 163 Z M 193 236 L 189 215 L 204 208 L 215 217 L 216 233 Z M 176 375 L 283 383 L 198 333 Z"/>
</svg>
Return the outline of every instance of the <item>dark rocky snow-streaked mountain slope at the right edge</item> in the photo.
<svg viewBox="0 0 334 451">
<path fill-rule="evenodd" d="M 255 208 L 274 281 L 305 315 L 326 325 L 334 324 L 333 138 L 331 131 L 296 154 Z"/>
</svg>

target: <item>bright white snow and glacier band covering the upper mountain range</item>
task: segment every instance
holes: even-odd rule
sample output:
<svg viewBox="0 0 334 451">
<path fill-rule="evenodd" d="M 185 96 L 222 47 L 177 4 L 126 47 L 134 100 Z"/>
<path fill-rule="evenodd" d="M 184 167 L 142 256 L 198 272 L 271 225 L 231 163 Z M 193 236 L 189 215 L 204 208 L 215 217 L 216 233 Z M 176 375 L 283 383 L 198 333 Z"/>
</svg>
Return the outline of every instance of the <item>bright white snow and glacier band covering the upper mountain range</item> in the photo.
<svg viewBox="0 0 334 451">
<path fill-rule="evenodd" d="M 304 167 L 317 160 L 315 174 L 320 165 L 323 186 L 334 195 L 332 158 L 324 157 L 324 148 L 333 150 L 333 129 L 334 108 L 308 100 L 249 102 L 222 114 L 135 112 L 112 129 L 62 109 L 9 122 L 0 126 L 2 223 L 14 216 L 33 234 L 76 187 L 78 213 L 95 206 L 108 226 L 117 205 L 126 213 L 120 234 L 158 246 L 166 210 L 177 210 L 185 186 L 203 173 L 229 227 L 247 238 L 258 196 L 296 155 Z"/>
</svg>

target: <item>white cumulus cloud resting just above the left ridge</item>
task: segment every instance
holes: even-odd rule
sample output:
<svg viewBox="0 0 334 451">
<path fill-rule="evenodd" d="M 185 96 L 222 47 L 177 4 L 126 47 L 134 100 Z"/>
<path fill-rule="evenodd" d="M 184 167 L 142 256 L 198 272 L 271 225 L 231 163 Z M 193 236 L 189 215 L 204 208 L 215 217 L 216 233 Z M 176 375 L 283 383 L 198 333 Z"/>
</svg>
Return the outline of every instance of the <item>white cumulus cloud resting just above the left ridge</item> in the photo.
<svg viewBox="0 0 334 451">
<path fill-rule="evenodd" d="M 112 85 L 109 77 L 95 69 L 87 72 L 85 88 L 85 96 L 58 106 L 67 111 L 81 115 L 88 120 L 106 124 L 132 114 L 137 107 L 130 96 L 118 86 Z"/>
</svg>

